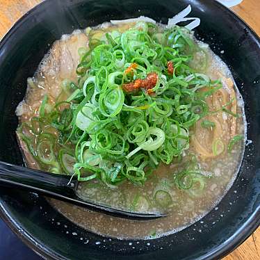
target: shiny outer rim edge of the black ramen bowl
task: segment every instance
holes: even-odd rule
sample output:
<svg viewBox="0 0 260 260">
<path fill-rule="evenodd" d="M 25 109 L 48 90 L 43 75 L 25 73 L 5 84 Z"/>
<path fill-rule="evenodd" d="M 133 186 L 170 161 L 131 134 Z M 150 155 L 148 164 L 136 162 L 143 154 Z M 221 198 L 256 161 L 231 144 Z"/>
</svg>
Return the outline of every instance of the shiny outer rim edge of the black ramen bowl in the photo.
<svg viewBox="0 0 260 260">
<path fill-rule="evenodd" d="M 24 22 L 24 19 L 26 17 L 29 17 L 32 15 L 35 10 L 38 10 L 38 8 L 44 8 L 45 4 L 50 3 L 53 0 L 43 0 L 42 2 L 36 4 L 33 8 L 31 8 L 28 12 L 26 12 L 22 17 L 17 19 L 17 21 L 10 27 L 10 29 L 6 32 L 6 34 L 3 35 L 3 37 L 0 40 L 0 49 L 3 47 L 3 45 L 8 41 L 11 35 L 19 29 L 19 26 L 22 25 Z M 259 43 L 259 49 L 260 49 L 260 35 L 257 35 L 257 33 L 254 32 L 254 30 L 251 28 L 250 25 L 248 25 L 241 17 L 236 15 L 233 10 L 223 6 L 218 1 L 213 1 L 214 5 L 218 6 L 220 10 L 225 11 L 229 13 L 229 15 L 232 15 L 233 17 L 236 17 L 236 19 L 239 19 L 242 24 L 247 27 L 247 29 L 250 31 L 250 33 L 254 36 L 254 40 L 256 40 Z M 254 212 L 248 218 L 244 224 L 236 230 L 236 232 L 230 236 L 225 243 L 222 243 L 218 245 L 214 250 L 211 252 L 208 252 L 206 254 L 203 254 L 200 256 L 199 259 L 221 259 L 222 257 L 227 256 L 227 254 L 231 253 L 233 250 L 235 250 L 239 245 L 241 245 L 249 236 L 252 235 L 252 233 L 260 226 L 260 204 L 257 206 L 256 209 L 254 209 Z M 13 218 L 12 213 L 8 211 L 5 207 L 5 202 L 0 197 L 0 218 L 6 222 L 6 225 L 10 227 L 10 229 L 17 235 L 18 238 L 20 238 L 23 243 L 25 243 L 27 246 L 31 248 L 36 254 L 38 254 L 43 259 L 58 259 L 63 260 L 67 259 L 60 254 L 54 252 L 53 250 L 49 250 L 48 247 L 44 247 L 41 245 L 40 241 L 37 241 L 29 232 L 26 231 L 21 225 L 19 225 L 19 222 Z"/>
</svg>

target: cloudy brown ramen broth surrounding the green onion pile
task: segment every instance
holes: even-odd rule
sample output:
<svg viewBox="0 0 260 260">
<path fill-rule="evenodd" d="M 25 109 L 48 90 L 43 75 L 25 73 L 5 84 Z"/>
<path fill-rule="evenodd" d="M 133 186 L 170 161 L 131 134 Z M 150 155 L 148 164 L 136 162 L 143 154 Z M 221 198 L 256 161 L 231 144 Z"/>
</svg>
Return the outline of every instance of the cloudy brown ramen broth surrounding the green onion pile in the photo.
<svg viewBox="0 0 260 260">
<path fill-rule="evenodd" d="M 26 97 L 17 107 L 20 124 L 34 125 L 34 131 L 30 127 L 22 128 L 23 135 L 21 130 L 17 131 L 27 166 L 54 173 L 60 171 L 56 161 L 52 162 L 62 149 L 59 145 L 58 130 L 44 119 L 35 120 L 35 115 L 38 116 L 41 112 L 40 107 L 44 102 L 42 100 L 47 94 L 48 101 L 44 110 L 48 112 L 56 104 L 57 99 L 64 101 L 70 97 L 73 90 L 67 90 L 66 84 L 77 82 L 77 65 L 86 53 L 88 44 L 104 38 L 106 32 L 122 33 L 132 26 L 135 26 L 135 23 L 120 25 L 105 23 L 93 29 L 74 31 L 72 35 L 64 35 L 61 40 L 54 42 L 40 63 L 38 71 L 33 78 L 28 79 Z M 163 28 L 161 30 L 163 31 Z M 245 136 L 243 100 L 227 65 L 213 54 L 207 44 L 197 40 L 195 44 L 200 47 L 200 51 L 197 51 L 190 60 L 190 67 L 197 73 L 206 74 L 211 80 L 220 79 L 222 88 L 206 97 L 209 111 L 215 112 L 209 113 L 190 128 L 188 149 L 185 149 L 181 156 L 174 157 L 168 165 L 160 163 L 143 185 L 125 180 L 114 186 L 104 184 L 99 179 L 92 179 L 80 182 L 77 190 L 78 196 L 85 200 L 131 211 L 167 212 L 168 216 L 149 221 L 127 220 L 88 211 L 59 200 L 49 200 L 72 222 L 104 236 L 155 238 L 184 229 L 199 220 L 227 193 L 236 178 L 243 156 L 243 138 L 238 138 L 241 140 L 229 147 L 230 140 L 234 136 Z M 202 60 L 206 60 L 206 63 L 202 64 Z M 205 90 L 202 88 L 198 91 L 203 93 Z M 69 104 L 64 102 L 59 105 L 59 109 L 64 110 L 68 106 Z M 220 109 L 223 106 L 227 109 Z M 51 139 L 53 142 L 51 150 L 48 138 L 42 138 L 41 147 L 38 147 L 36 141 L 29 144 L 24 138 L 24 136 L 35 138 L 42 127 L 44 133 L 54 137 Z M 71 147 L 73 151 L 75 144 L 69 140 L 66 146 Z M 48 163 L 35 159 L 30 147 L 38 153 L 43 153 L 42 156 Z M 72 163 L 72 166 L 67 166 L 66 173 L 73 174 L 73 152 L 66 154 L 65 158 L 67 164 Z"/>
</svg>

